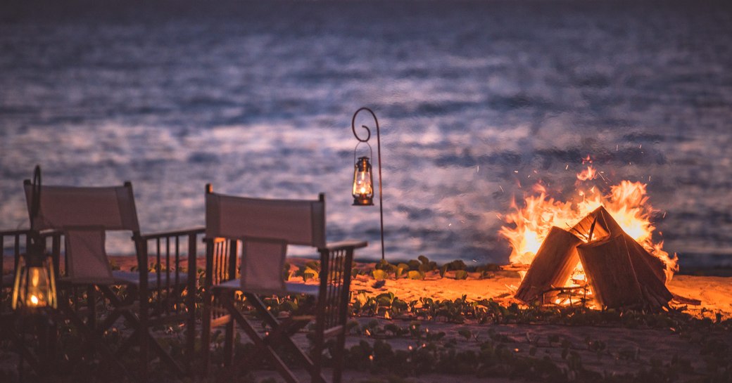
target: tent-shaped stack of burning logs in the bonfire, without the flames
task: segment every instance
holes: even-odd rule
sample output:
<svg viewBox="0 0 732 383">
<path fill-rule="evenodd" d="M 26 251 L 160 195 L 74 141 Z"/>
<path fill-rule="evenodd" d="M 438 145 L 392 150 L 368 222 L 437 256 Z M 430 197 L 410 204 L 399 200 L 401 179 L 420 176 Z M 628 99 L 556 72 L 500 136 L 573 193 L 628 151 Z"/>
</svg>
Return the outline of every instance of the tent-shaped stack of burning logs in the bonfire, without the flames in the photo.
<svg viewBox="0 0 732 383">
<path fill-rule="evenodd" d="M 672 298 L 665 269 L 600 206 L 569 231 L 550 229 L 515 296 L 526 303 L 660 308 Z"/>
</svg>

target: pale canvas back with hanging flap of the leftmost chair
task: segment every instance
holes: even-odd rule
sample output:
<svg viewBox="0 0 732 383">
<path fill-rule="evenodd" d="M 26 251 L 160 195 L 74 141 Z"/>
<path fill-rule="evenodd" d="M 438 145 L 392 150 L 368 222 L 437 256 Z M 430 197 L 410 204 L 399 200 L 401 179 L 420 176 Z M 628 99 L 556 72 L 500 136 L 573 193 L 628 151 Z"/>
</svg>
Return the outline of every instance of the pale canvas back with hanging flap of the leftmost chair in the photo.
<svg viewBox="0 0 732 383">
<path fill-rule="evenodd" d="M 32 185 L 25 182 L 31 209 Z M 42 186 L 40 208 L 31 216 L 34 230 L 61 230 L 66 240 L 66 271 L 74 281 L 111 281 L 105 251 L 106 230 L 140 232 L 132 183 L 124 186 Z"/>
</svg>

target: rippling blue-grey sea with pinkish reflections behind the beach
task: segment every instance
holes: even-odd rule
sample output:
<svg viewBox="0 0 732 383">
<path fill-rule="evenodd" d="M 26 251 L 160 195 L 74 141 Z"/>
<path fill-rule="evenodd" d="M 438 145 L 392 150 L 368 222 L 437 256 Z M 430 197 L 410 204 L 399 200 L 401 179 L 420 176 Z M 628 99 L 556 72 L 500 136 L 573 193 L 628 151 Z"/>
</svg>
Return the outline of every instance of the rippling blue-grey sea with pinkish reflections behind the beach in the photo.
<svg viewBox="0 0 732 383">
<path fill-rule="evenodd" d="M 378 206 L 350 195 L 351 115 L 368 106 L 387 259 L 507 262 L 512 198 L 541 181 L 568 199 L 590 155 L 609 181 L 648 184 L 682 268 L 732 265 L 725 3 L 9 2 L 2 228 L 28 226 L 39 163 L 45 184 L 132 181 L 144 232 L 202 225 L 205 183 L 324 191 L 329 239 L 367 239 L 358 256 L 376 259 Z"/>
</svg>

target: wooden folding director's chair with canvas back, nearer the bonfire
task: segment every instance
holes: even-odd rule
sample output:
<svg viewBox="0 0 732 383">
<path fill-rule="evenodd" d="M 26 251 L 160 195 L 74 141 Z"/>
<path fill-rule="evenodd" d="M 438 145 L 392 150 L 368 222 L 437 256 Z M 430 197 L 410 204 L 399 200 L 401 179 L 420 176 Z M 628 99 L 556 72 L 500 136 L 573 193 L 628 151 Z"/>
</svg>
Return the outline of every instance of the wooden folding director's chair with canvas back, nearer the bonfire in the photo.
<svg viewBox="0 0 732 383">
<path fill-rule="evenodd" d="M 321 373 L 326 338 L 337 338 L 333 382 L 340 382 L 343 346 L 346 339 L 351 265 L 354 250 L 367 246 L 363 241 L 326 244 L 325 196 L 318 200 L 265 200 L 214 194 L 206 186 L 206 282 L 203 298 L 203 363 L 208 364 L 212 327 L 226 325 L 225 364 L 233 372 L 234 322 L 251 338 L 256 351 L 238 367 L 251 368 L 262 358 L 290 383 L 299 382 L 290 366 L 277 354 L 284 349 L 305 366 L 311 382 L 326 382 Z M 283 266 L 288 245 L 313 246 L 320 252 L 318 284 L 286 282 Z M 239 278 L 237 257 L 241 251 Z M 242 292 L 270 328 L 261 333 L 241 310 L 234 297 Z M 306 310 L 288 318 L 273 315 L 259 295 L 315 297 Z M 313 348 L 303 352 L 291 336 L 315 321 Z"/>
</svg>

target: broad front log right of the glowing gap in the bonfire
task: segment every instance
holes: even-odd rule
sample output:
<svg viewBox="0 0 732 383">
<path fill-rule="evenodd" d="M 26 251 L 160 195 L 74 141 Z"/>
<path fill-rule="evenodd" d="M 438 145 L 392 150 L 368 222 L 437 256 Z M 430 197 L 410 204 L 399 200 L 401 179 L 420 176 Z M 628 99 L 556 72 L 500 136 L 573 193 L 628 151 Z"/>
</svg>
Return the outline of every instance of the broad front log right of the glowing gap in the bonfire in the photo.
<svg viewBox="0 0 732 383">
<path fill-rule="evenodd" d="M 577 250 L 600 304 L 619 308 L 643 305 L 648 301 L 635 276 L 623 234 L 583 243 Z"/>
</svg>

